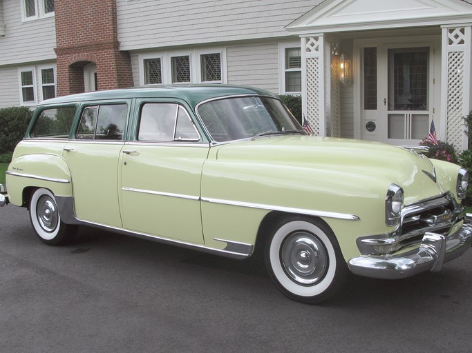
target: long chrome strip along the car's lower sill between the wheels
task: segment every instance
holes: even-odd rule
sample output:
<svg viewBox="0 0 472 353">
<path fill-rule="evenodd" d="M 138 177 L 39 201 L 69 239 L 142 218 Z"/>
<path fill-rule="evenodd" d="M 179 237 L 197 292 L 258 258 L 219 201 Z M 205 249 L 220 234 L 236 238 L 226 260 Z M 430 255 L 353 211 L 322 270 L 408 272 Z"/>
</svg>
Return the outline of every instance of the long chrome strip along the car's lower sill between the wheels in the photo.
<svg viewBox="0 0 472 353">
<path fill-rule="evenodd" d="M 129 236 L 135 236 L 136 238 L 140 239 L 147 239 L 151 241 L 156 241 L 158 243 L 169 243 L 171 245 L 177 245 L 182 248 L 187 248 L 187 249 L 193 249 L 193 250 L 199 250 L 202 252 L 208 252 L 210 254 L 218 254 L 220 256 L 226 256 L 232 259 L 246 259 L 249 257 L 252 253 L 251 252 L 238 252 L 238 251 L 232 251 L 232 250 L 225 250 L 225 249 L 215 249 L 215 248 L 209 248 L 208 246 L 205 245 L 200 245 L 200 244 L 195 244 L 195 243 L 187 243 L 185 241 L 179 241 L 176 239 L 169 239 L 169 238 L 163 238 L 162 236 L 155 236 L 147 233 L 141 233 L 141 232 L 134 232 L 131 230 L 125 230 L 122 228 L 117 228 L 113 227 L 111 225 L 104 225 L 100 223 L 95 223 L 95 222 L 90 222 L 90 221 L 82 221 L 79 220 L 81 223 L 84 225 L 90 225 L 95 228 L 101 228 L 105 230 L 113 230 L 114 232 L 129 235 Z M 234 243 L 234 242 L 233 242 Z"/>
</svg>

